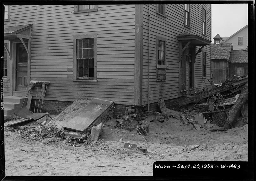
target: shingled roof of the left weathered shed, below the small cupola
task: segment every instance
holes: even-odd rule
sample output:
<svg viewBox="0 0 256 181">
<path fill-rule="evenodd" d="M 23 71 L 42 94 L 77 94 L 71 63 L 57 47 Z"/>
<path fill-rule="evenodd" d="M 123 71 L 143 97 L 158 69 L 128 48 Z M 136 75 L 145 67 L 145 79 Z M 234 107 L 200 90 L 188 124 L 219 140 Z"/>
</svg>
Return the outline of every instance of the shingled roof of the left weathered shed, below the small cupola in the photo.
<svg viewBox="0 0 256 181">
<path fill-rule="evenodd" d="M 231 50 L 233 50 L 232 43 L 221 44 L 220 46 L 212 44 L 212 59 L 228 60 Z"/>
</svg>

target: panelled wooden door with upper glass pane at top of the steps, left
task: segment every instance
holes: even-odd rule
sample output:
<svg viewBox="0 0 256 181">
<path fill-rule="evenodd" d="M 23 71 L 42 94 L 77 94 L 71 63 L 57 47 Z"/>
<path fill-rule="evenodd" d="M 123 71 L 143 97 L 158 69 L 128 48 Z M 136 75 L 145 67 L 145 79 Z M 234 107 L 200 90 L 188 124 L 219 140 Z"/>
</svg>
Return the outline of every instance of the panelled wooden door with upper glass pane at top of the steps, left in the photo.
<svg viewBox="0 0 256 181">
<path fill-rule="evenodd" d="M 27 45 L 27 43 L 26 43 Z M 16 44 L 16 91 L 27 91 L 28 53 L 22 43 Z"/>
</svg>

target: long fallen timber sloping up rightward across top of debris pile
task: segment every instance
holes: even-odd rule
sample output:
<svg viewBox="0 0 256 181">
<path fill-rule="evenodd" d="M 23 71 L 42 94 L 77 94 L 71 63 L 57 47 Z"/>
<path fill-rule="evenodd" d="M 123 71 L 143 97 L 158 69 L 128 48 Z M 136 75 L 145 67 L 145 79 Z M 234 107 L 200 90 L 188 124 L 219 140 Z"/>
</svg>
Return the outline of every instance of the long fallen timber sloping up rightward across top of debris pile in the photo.
<svg viewBox="0 0 256 181">
<path fill-rule="evenodd" d="M 190 97 L 183 101 L 180 101 L 178 103 L 178 106 L 181 107 L 181 106 L 185 106 L 189 103 L 199 102 L 200 100 L 202 100 L 204 98 L 208 98 L 217 93 L 221 93 L 221 92 L 225 92 L 225 91 L 231 91 L 232 93 L 236 92 L 236 91 L 240 91 L 242 89 L 242 86 L 247 82 L 247 80 L 248 80 L 247 78 L 248 78 L 248 76 L 246 76 L 242 79 L 239 79 L 237 81 L 234 81 L 232 83 L 234 86 L 232 86 L 232 87 L 221 86 L 221 87 L 217 87 L 215 90 L 204 91 L 203 93 L 195 95 L 194 97 Z"/>
</svg>

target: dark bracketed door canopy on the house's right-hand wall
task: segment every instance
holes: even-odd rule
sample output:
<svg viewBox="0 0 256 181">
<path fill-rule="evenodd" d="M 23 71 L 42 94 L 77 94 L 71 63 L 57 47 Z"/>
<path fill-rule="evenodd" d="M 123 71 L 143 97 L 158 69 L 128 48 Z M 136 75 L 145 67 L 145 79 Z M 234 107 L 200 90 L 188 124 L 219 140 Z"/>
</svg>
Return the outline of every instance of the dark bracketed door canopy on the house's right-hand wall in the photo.
<svg viewBox="0 0 256 181">
<path fill-rule="evenodd" d="M 205 46 L 211 44 L 211 40 L 207 40 L 204 37 L 198 36 L 198 35 L 192 35 L 192 34 L 181 34 L 177 36 L 178 41 L 182 42 L 182 44 L 186 44 L 187 42 L 190 42 L 189 45 L 194 46 Z"/>
</svg>

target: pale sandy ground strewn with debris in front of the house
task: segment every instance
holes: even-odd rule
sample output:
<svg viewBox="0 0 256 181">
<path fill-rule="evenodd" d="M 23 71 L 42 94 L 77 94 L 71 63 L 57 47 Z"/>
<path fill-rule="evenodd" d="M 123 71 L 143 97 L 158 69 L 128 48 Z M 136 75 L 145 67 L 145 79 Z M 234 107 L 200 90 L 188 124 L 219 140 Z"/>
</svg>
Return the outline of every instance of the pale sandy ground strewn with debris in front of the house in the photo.
<svg viewBox="0 0 256 181">
<path fill-rule="evenodd" d="M 248 161 L 248 124 L 211 132 L 169 118 L 149 125 L 146 142 L 136 131 L 113 128 L 108 122 L 99 142 L 81 147 L 56 138 L 30 140 L 21 133 L 4 130 L 6 176 L 152 176 L 155 161 Z M 124 148 L 128 141 L 150 156 Z M 184 145 L 199 147 L 181 152 Z M 95 167 L 104 165 L 120 167 Z"/>
</svg>

